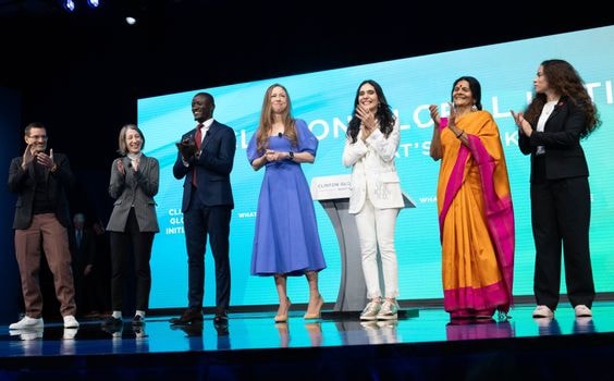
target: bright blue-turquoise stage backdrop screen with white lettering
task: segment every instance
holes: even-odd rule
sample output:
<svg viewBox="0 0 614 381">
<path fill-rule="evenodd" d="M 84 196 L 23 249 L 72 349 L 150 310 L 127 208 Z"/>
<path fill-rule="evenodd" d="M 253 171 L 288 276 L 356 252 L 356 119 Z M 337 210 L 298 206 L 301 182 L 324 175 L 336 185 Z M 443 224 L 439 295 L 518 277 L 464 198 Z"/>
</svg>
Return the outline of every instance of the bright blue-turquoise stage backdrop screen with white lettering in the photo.
<svg viewBox="0 0 614 381">
<path fill-rule="evenodd" d="M 138 124 L 147 144 L 146 153 L 160 160 L 160 192 L 156 197 L 161 232 L 155 238 L 151 308 L 184 307 L 187 303 L 187 260 L 181 213 L 182 185 L 172 175 L 175 142 L 195 126 L 192 97 L 209 91 L 216 98 L 214 118 L 235 130 L 237 149 L 232 172 L 235 209 L 231 226 L 233 306 L 277 304 L 271 278 L 249 274 L 256 206 L 263 170 L 255 172 L 246 157 L 255 132 L 266 88 L 283 84 L 296 118 L 307 121 L 320 140 L 314 164 L 303 164 L 307 180 L 348 174 L 341 163 L 345 130 L 354 96 L 363 79 L 379 82 L 401 119 L 402 135 L 396 165 L 403 190 L 416 204 L 398 217 L 396 249 L 400 299 L 431 299 L 443 296 L 441 247 L 435 202 L 440 163 L 429 152 L 432 122 L 428 106 L 445 108 L 454 79 L 476 76 L 482 85 L 482 105 L 495 118 L 505 147 L 516 217 L 515 295 L 532 295 L 535 250 L 529 210 L 529 157 L 518 149 L 516 126 L 508 110 L 523 110 L 530 99 L 532 81 L 541 61 L 561 58 L 579 71 L 592 95 L 603 125 L 582 145 L 590 165 L 592 193 L 591 256 L 598 292 L 614 291 L 614 26 L 476 47 L 437 54 L 377 62 L 331 71 L 266 78 L 229 86 L 194 89 L 138 100 Z M 249 64 L 246 62 L 246 64 Z M 162 74 L 163 75 L 163 74 Z M 334 302 L 341 280 L 340 248 L 332 223 L 316 201 L 320 237 L 328 268 L 320 273 L 321 292 Z M 355 255 L 358 255 L 356 253 Z M 206 306 L 214 304 L 211 253 L 206 255 Z M 564 284 L 562 292 L 565 292 Z M 305 279 L 290 279 L 290 297 L 307 302 Z"/>
</svg>

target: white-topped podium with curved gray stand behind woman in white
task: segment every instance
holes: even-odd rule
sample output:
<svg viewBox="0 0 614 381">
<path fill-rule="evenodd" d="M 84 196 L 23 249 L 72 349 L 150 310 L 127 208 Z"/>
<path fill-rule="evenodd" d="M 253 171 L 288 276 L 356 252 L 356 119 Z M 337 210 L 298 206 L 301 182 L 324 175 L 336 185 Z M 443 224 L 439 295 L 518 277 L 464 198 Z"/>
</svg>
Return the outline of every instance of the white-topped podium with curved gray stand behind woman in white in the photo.
<svg viewBox="0 0 614 381">
<path fill-rule="evenodd" d="M 333 311 L 360 312 L 367 305 L 367 285 L 360 261 L 360 244 L 354 216 L 347 212 L 352 195 L 349 174 L 311 180 L 311 197 L 320 201 L 333 223 L 341 253 L 341 284 Z M 415 208 L 403 194 L 405 208 Z"/>
</svg>

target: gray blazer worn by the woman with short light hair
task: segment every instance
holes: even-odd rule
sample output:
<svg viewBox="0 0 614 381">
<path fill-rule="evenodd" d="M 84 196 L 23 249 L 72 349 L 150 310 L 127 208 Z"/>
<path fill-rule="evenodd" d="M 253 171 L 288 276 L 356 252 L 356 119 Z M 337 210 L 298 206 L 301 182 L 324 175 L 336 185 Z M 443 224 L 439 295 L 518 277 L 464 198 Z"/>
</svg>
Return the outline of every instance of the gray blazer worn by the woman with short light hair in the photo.
<svg viewBox="0 0 614 381">
<path fill-rule="evenodd" d="M 125 174 L 118 170 L 118 160 L 124 163 Z M 134 206 L 142 232 L 159 232 L 156 201 L 160 183 L 160 165 L 156 158 L 140 156 L 138 171 L 134 171 L 127 157 L 113 160 L 109 195 L 115 199 L 107 230 L 124 232 L 130 209 Z"/>
</svg>

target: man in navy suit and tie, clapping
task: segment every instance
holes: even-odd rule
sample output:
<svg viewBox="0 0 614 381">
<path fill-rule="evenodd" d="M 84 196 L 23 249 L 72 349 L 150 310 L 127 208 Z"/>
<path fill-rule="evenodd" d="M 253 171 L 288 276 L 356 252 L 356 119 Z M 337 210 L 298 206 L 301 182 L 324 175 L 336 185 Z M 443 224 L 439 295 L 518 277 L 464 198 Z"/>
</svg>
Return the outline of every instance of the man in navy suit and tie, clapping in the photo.
<svg viewBox="0 0 614 381">
<path fill-rule="evenodd" d="M 207 93 L 192 99 L 196 128 L 184 134 L 173 165 L 175 179 L 184 179 L 183 221 L 187 248 L 187 309 L 172 324 L 202 321 L 205 251 L 207 236 L 216 262 L 216 324 L 228 322 L 231 295 L 229 258 L 230 221 L 234 199 L 230 174 L 234 163 L 234 131 L 213 120 L 216 102 Z"/>
</svg>

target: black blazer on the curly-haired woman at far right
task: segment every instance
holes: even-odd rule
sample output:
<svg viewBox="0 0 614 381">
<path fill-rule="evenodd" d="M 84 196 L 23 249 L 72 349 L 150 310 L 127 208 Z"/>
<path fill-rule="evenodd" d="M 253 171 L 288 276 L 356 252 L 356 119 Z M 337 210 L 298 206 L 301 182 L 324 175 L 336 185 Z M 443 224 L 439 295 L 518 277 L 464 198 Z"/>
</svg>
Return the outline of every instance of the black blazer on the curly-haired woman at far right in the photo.
<svg viewBox="0 0 614 381">
<path fill-rule="evenodd" d="M 519 134 L 518 146 L 525 155 L 531 155 L 531 182 L 533 160 L 538 146 L 545 148 L 545 176 L 548 180 L 588 176 L 585 151 L 580 146 L 580 133 L 586 124 L 586 113 L 570 99 L 563 97 L 545 122 L 544 131 L 530 137 Z"/>
</svg>

